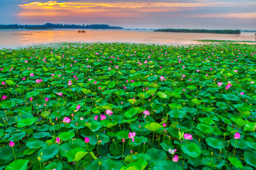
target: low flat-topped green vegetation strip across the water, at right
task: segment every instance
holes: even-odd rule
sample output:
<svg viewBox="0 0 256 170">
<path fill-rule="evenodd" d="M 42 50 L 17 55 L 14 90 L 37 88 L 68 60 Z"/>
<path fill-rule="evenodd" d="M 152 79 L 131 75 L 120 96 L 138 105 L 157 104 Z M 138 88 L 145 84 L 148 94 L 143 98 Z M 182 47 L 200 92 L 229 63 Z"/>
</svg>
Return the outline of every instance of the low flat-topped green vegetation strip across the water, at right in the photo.
<svg viewBox="0 0 256 170">
<path fill-rule="evenodd" d="M 181 33 L 213 33 L 213 34 L 240 34 L 240 30 L 200 30 L 200 29 L 158 29 L 155 32 L 181 32 Z"/>
</svg>

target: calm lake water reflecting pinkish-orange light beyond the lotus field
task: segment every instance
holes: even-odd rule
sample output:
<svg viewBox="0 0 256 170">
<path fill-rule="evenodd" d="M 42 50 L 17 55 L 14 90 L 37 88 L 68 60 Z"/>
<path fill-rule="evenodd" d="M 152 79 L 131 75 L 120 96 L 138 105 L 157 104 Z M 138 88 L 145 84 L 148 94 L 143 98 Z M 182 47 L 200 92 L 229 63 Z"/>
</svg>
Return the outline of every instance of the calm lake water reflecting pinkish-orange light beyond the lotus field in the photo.
<svg viewBox="0 0 256 170">
<path fill-rule="evenodd" d="M 18 48 L 49 43 L 61 42 L 119 42 L 119 43 L 147 43 L 185 45 L 199 44 L 197 39 L 218 40 L 249 40 L 255 41 L 255 32 L 241 32 L 240 35 L 232 34 L 203 34 L 203 33 L 167 33 L 153 32 L 153 30 L 85 30 L 84 33 L 77 29 L 55 30 L 0 30 L 0 49 Z"/>
</svg>

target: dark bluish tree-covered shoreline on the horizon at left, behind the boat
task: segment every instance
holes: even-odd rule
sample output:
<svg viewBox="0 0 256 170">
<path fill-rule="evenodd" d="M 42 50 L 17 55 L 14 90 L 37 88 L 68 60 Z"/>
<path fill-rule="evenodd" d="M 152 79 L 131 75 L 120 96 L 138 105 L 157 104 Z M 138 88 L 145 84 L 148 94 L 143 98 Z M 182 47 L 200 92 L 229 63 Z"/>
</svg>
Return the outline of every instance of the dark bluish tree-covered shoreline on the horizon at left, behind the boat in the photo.
<svg viewBox="0 0 256 170">
<path fill-rule="evenodd" d="M 108 24 L 90 24 L 90 25 L 75 25 L 75 24 L 60 24 L 60 23 L 46 23 L 43 25 L 18 25 L 10 24 L 3 25 L 0 24 L 0 29 L 18 29 L 18 28 L 76 28 L 76 29 L 123 29 L 123 27 L 109 26 Z"/>
</svg>

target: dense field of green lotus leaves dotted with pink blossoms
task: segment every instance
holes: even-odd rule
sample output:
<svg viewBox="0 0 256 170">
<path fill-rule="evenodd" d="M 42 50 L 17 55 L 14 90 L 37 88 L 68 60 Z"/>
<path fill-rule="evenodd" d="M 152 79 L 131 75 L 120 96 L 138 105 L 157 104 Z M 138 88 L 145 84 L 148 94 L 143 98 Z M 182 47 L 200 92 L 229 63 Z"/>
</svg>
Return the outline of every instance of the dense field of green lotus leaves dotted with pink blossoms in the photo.
<svg viewBox="0 0 256 170">
<path fill-rule="evenodd" d="M 0 50 L 0 170 L 256 167 L 256 46 Z"/>
</svg>

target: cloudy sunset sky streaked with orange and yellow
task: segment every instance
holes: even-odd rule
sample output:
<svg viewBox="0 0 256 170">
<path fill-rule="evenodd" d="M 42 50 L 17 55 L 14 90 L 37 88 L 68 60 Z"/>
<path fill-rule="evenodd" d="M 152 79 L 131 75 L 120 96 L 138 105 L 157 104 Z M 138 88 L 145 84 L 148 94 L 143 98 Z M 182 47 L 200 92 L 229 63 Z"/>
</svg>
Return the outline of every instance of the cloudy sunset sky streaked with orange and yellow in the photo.
<svg viewBox="0 0 256 170">
<path fill-rule="evenodd" d="M 0 0 L 0 24 L 256 30 L 256 0 Z"/>
</svg>

